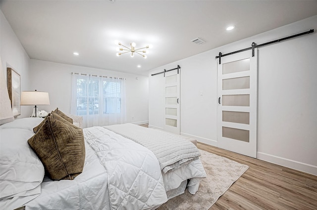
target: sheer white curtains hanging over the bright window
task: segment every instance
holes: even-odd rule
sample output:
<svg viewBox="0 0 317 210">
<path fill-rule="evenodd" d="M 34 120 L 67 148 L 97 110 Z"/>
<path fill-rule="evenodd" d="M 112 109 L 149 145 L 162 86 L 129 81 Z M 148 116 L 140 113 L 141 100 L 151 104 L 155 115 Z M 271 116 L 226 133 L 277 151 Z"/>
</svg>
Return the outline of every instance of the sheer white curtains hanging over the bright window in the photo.
<svg viewBox="0 0 317 210">
<path fill-rule="evenodd" d="M 71 114 L 83 127 L 126 122 L 125 79 L 72 73 Z"/>
</svg>

